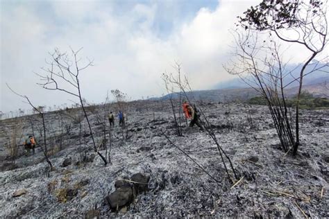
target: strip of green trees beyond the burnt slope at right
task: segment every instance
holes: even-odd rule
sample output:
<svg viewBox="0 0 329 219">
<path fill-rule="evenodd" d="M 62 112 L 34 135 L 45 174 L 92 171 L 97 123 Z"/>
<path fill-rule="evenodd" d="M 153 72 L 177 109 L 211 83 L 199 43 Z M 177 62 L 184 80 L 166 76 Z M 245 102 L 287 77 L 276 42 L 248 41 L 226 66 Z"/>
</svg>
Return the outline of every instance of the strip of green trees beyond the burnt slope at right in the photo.
<svg viewBox="0 0 329 219">
<path fill-rule="evenodd" d="M 294 107 L 296 106 L 297 97 L 294 96 L 293 98 L 287 99 L 287 107 Z M 255 96 L 250 98 L 247 101 L 249 104 L 252 105 L 267 105 L 266 100 L 262 96 Z M 314 98 L 312 94 L 307 91 L 303 91 L 301 94 L 301 109 L 321 109 L 321 108 L 329 108 L 329 99 L 328 98 Z"/>
</svg>

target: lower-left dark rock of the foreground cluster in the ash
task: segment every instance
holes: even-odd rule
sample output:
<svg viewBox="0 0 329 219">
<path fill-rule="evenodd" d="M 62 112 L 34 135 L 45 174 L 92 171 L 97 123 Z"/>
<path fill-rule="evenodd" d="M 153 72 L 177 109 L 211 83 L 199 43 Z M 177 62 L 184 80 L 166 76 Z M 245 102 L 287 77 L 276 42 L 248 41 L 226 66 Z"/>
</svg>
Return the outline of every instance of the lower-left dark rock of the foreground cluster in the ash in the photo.
<svg viewBox="0 0 329 219">
<path fill-rule="evenodd" d="M 119 188 L 115 192 L 106 196 L 106 201 L 110 205 L 112 210 L 119 210 L 121 207 L 128 206 L 133 202 L 133 189 L 131 188 Z"/>
</svg>

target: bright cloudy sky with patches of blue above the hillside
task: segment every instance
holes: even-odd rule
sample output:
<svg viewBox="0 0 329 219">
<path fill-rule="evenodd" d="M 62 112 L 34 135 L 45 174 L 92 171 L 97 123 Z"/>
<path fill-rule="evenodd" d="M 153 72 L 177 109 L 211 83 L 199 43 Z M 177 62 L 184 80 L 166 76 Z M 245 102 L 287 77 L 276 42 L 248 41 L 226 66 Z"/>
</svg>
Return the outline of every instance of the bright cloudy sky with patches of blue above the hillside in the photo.
<svg viewBox="0 0 329 219">
<path fill-rule="evenodd" d="M 83 97 L 101 103 L 120 89 L 133 99 L 165 93 L 160 76 L 182 64 L 193 89 L 211 89 L 232 78 L 223 71 L 237 16 L 259 1 L 1 1 L 1 104 L 29 108 L 6 82 L 35 105 L 76 101 L 38 87 L 54 48 L 83 50 L 94 67 L 81 74 Z"/>
</svg>

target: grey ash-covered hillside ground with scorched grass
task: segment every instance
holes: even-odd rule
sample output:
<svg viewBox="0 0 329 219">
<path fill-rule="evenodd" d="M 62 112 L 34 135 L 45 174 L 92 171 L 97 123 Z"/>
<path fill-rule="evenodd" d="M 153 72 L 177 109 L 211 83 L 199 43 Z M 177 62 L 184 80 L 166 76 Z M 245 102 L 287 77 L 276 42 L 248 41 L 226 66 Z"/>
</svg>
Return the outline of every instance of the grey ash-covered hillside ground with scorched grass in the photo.
<svg viewBox="0 0 329 219">
<path fill-rule="evenodd" d="M 98 155 L 93 156 L 96 153 L 85 120 L 81 120 L 80 132 L 80 110 L 63 110 L 45 118 L 52 171 L 40 147 L 35 155 L 24 155 L 19 146 L 15 164 L 8 154 L 10 141 L 14 138 L 22 144 L 22 134 L 32 132 L 31 124 L 42 143 L 37 115 L 0 121 L 0 218 L 329 217 L 328 110 L 301 112 L 301 146 L 298 155 L 292 157 L 280 150 L 267 107 L 199 106 L 233 161 L 241 179 L 235 186 L 228 180 L 217 146 L 207 132 L 188 128 L 183 121 L 183 137 L 176 135 L 167 102 L 129 104 L 128 137 L 116 119 L 111 150 L 106 143 L 111 160 L 107 166 Z M 110 110 L 117 112 L 113 105 Z M 97 112 L 101 116 L 96 116 Z M 88 114 L 99 146 L 103 112 L 101 107 L 90 108 Z M 218 182 L 172 146 L 164 133 Z M 100 152 L 106 153 L 103 149 Z M 71 158 L 69 165 L 62 167 L 67 158 Z M 135 173 L 150 177 L 149 190 L 134 195 L 127 208 L 112 211 L 106 196 L 115 191 L 118 179 L 129 179 Z M 13 197 L 17 191 L 23 194 Z"/>
</svg>

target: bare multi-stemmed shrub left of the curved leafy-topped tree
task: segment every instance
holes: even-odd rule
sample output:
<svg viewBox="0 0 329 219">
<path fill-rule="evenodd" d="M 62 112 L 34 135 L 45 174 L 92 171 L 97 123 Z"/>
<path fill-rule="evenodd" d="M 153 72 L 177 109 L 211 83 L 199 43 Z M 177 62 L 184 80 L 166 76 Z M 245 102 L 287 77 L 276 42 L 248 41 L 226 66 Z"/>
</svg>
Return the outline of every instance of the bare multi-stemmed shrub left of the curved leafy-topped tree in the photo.
<svg viewBox="0 0 329 219">
<path fill-rule="evenodd" d="M 259 40 L 257 33 L 248 32 L 242 34 L 235 32 L 235 42 L 237 48 L 233 53 L 234 61 L 228 66 L 224 66 L 226 71 L 242 78 L 247 85 L 253 87 L 266 100 L 271 113 L 273 123 L 280 139 L 282 149 L 286 152 L 294 148 L 296 154 L 298 148 L 298 127 L 296 126 L 296 136 L 293 132 L 292 117 L 288 114 L 289 107 L 285 97 L 284 78 L 291 74 L 285 69 L 282 62 L 280 46 L 269 37 L 269 43 Z M 312 73 L 319 68 L 315 67 Z M 305 75 L 304 75 L 305 76 Z M 300 80 L 299 87 L 301 89 Z M 299 103 L 296 103 L 299 105 Z M 298 106 L 296 107 L 295 123 L 298 124 Z"/>
</svg>

